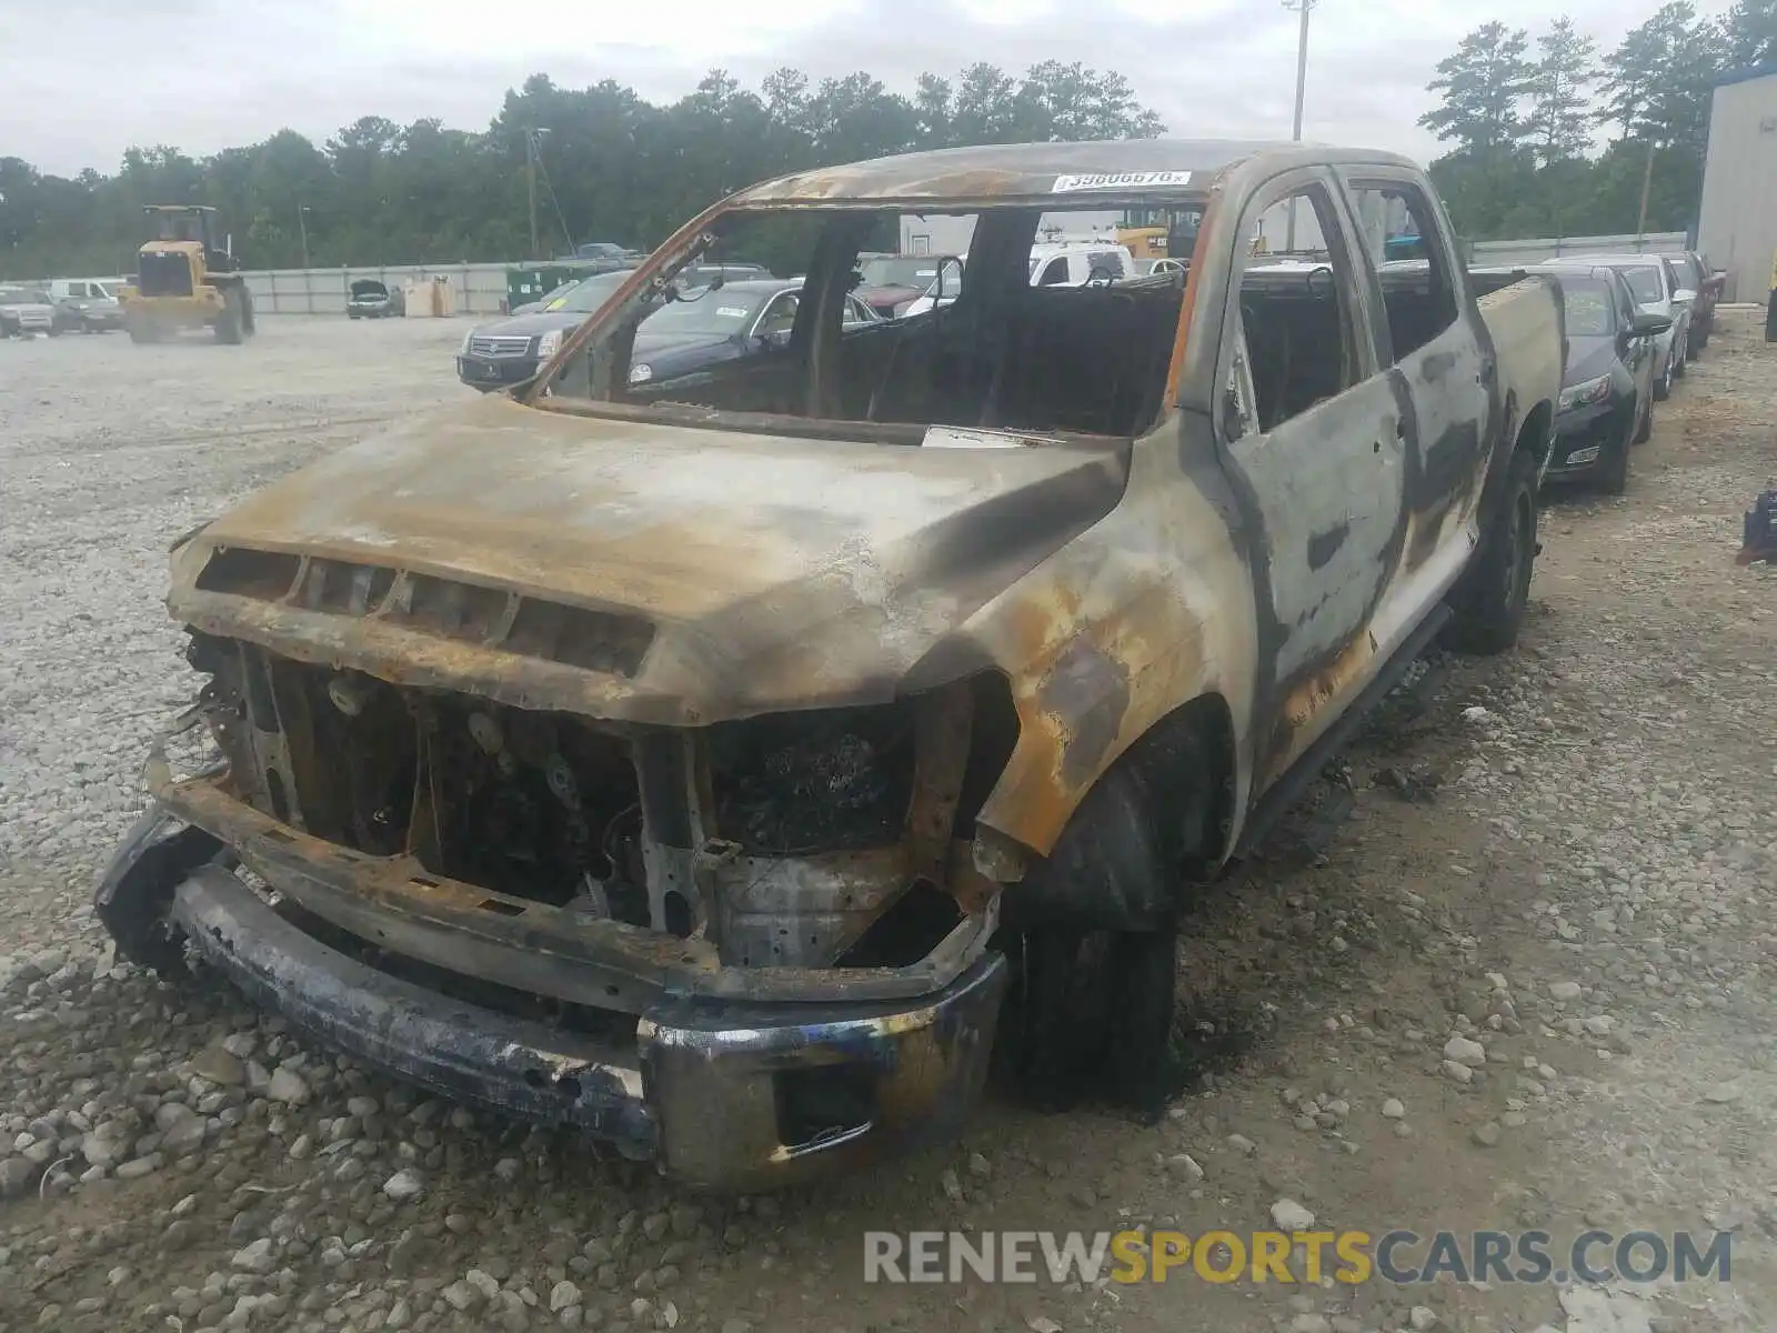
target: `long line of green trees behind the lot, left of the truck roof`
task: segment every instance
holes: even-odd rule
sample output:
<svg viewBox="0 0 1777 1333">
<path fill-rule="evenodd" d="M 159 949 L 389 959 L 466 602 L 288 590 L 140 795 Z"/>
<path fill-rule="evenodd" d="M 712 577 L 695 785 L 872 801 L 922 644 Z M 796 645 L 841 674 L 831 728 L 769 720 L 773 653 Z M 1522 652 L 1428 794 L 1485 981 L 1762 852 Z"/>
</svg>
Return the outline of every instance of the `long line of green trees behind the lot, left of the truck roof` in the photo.
<svg viewBox="0 0 1777 1333">
<path fill-rule="evenodd" d="M 1048 60 L 1013 76 L 972 64 L 912 94 L 865 73 L 819 84 L 778 69 L 759 89 L 711 71 L 670 105 L 604 80 L 531 75 L 480 133 L 366 116 L 316 146 L 293 130 L 194 158 L 131 148 L 75 178 L 0 156 L 0 274 L 128 272 L 142 204 L 220 210 L 249 268 L 503 261 L 610 240 L 649 249 L 732 190 L 833 162 L 960 144 L 1164 133 L 1123 75 Z M 531 162 L 537 169 L 533 174 Z"/>
</svg>

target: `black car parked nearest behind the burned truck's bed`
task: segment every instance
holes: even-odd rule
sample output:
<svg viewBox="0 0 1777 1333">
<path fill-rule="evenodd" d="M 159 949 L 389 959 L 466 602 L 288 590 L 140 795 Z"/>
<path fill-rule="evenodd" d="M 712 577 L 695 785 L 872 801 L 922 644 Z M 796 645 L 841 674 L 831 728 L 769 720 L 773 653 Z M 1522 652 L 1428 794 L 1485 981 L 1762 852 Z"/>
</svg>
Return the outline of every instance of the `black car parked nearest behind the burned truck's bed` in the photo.
<svg viewBox="0 0 1777 1333">
<path fill-rule="evenodd" d="M 1672 327 L 1642 315 L 1615 268 L 1548 263 L 1567 313 L 1567 373 L 1548 478 L 1585 478 L 1610 494 L 1630 483 L 1630 446 L 1653 432 L 1656 339 Z"/>
</svg>

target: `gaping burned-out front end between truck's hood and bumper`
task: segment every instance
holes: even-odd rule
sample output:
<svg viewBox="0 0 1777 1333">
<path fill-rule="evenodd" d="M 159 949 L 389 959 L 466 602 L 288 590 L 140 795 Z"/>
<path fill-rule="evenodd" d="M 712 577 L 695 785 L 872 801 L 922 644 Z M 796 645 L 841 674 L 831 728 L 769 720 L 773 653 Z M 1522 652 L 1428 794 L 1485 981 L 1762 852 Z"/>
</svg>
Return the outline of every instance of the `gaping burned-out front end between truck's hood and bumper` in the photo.
<svg viewBox="0 0 1777 1333">
<path fill-rule="evenodd" d="M 318 588 L 347 606 L 375 592 L 336 571 Z M 190 659 L 211 675 L 201 707 L 236 798 L 354 853 L 405 857 L 414 885 L 485 890 L 490 915 L 556 908 L 698 940 L 734 967 L 892 969 L 993 898 L 967 834 L 983 775 L 1016 739 L 997 675 L 675 730 L 396 686 L 197 631 Z"/>
</svg>

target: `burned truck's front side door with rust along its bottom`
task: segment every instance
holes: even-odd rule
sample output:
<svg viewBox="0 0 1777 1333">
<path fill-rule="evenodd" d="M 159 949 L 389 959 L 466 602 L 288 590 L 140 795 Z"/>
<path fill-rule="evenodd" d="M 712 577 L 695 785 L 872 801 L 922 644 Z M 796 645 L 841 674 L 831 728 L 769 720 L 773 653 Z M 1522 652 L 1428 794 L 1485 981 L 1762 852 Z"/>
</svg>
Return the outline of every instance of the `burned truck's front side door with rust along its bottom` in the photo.
<svg viewBox="0 0 1777 1333">
<path fill-rule="evenodd" d="M 1326 267 L 1342 293 L 1352 382 L 1260 430 L 1240 403 L 1242 393 L 1253 403 L 1240 299 L 1246 274 L 1265 265 L 1255 263 L 1244 242 L 1290 197 L 1306 199 L 1322 229 Z M 1265 181 L 1247 197 L 1235 235 L 1240 243 L 1224 291 L 1214 421 L 1223 466 L 1258 519 L 1251 745 L 1253 787 L 1262 791 L 1379 666 L 1368 627 L 1398 563 L 1406 512 L 1400 443 L 1409 403 L 1381 363 L 1375 288 L 1358 259 L 1347 203 L 1331 172 L 1308 167 Z"/>
</svg>

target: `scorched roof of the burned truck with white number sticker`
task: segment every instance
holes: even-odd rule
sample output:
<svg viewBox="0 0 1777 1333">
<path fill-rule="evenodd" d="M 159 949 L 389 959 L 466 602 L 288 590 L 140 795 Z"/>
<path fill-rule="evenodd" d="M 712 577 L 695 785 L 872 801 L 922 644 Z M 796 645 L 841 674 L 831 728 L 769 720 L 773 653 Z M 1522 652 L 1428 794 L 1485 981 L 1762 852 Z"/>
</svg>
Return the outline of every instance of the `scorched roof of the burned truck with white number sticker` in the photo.
<svg viewBox="0 0 1777 1333">
<path fill-rule="evenodd" d="M 1112 203 L 1116 199 L 1199 197 L 1215 176 L 1255 156 L 1294 164 L 1414 164 L 1379 149 L 1274 140 L 1125 139 L 1088 144 L 983 144 L 903 153 L 800 171 L 741 190 L 739 208 L 784 203 L 862 204 L 890 201 Z"/>
</svg>

